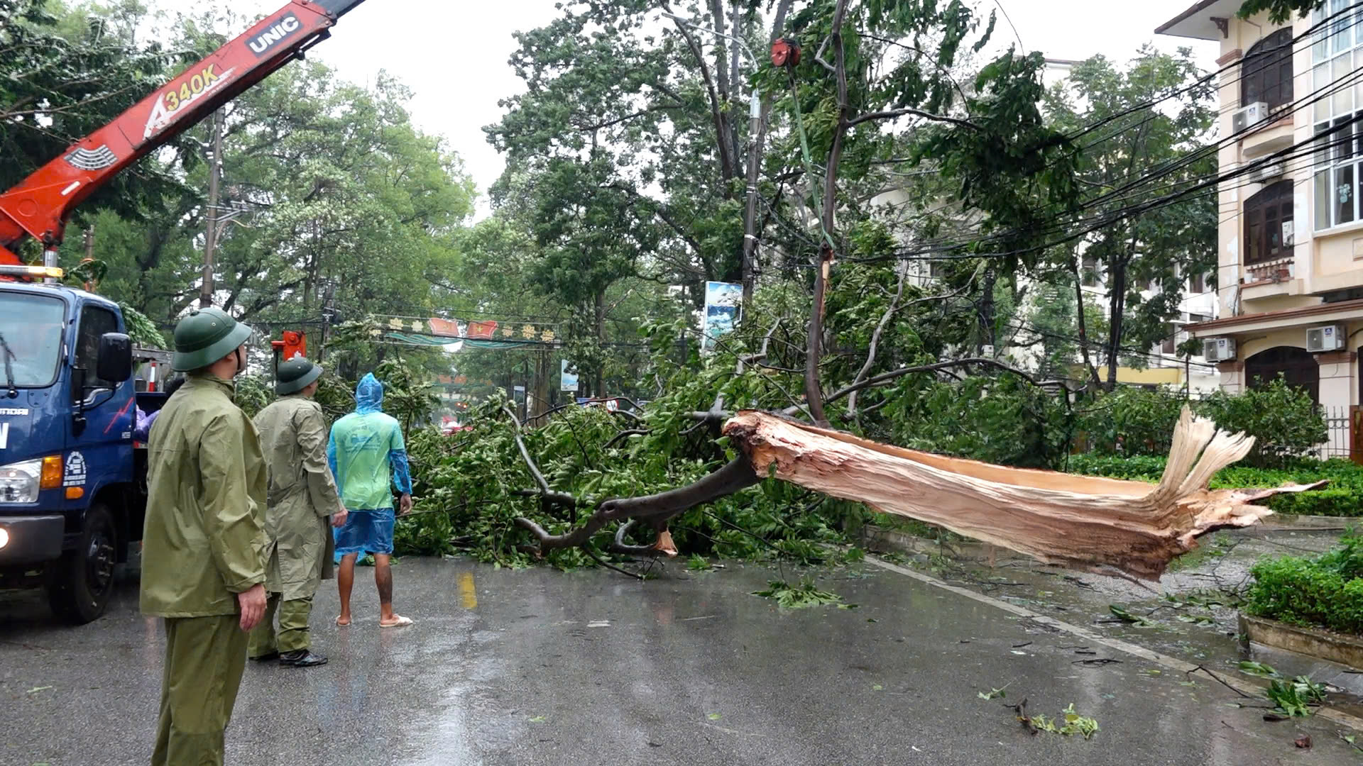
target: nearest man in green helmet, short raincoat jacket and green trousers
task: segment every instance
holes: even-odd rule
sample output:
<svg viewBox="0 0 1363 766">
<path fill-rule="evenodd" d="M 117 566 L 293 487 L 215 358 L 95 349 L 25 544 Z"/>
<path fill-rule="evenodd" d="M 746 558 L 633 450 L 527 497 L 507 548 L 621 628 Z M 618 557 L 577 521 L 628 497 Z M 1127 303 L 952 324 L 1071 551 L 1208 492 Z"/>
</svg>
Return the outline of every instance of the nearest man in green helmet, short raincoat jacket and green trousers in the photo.
<svg viewBox="0 0 1363 766">
<path fill-rule="evenodd" d="M 217 766 L 264 613 L 266 469 L 232 397 L 251 328 L 217 308 L 176 324 L 188 380 L 161 409 L 147 450 L 142 613 L 165 619 L 153 766 Z"/>
</svg>

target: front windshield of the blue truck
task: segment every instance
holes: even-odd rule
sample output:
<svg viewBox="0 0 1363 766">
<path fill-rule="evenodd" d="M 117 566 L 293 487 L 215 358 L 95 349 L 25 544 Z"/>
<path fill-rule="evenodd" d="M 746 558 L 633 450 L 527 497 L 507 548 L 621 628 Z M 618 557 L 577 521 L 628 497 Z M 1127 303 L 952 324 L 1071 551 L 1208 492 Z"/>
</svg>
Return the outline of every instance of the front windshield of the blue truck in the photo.
<svg viewBox="0 0 1363 766">
<path fill-rule="evenodd" d="M 42 388 L 57 379 L 61 357 L 61 327 L 65 305 L 61 298 L 0 290 L 0 337 L 8 346 L 12 386 Z M 0 387 L 8 387 L 0 346 Z"/>
</svg>

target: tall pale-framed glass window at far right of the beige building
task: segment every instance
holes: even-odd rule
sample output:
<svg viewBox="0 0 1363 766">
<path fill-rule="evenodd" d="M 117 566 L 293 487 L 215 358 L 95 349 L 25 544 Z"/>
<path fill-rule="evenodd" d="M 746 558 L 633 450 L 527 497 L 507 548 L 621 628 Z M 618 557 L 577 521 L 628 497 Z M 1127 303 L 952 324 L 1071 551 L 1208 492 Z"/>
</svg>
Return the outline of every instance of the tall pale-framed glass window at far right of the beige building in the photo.
<svg viewBox="0 0 1363 766">
<path fill-rule="evenodd" d="M 1329 0 L 1315 11 L 1317 25 L 1340 14 L 1322 27 L 1311 45 L 1311 123 L 1315 135 L 1315 228 L 1329 229 L 1359 219 L 1359 177 L 1356 151 L 1363 110 L 1363 83 L 1355 72 L 1363 68 L 1363 5 L 1343 12 L 1353 0 Z M 1356 16 L 1356 18 L 1355 18 Z M 1340 83 L 1334 86 L 1334 83 Z"/>
</svg>

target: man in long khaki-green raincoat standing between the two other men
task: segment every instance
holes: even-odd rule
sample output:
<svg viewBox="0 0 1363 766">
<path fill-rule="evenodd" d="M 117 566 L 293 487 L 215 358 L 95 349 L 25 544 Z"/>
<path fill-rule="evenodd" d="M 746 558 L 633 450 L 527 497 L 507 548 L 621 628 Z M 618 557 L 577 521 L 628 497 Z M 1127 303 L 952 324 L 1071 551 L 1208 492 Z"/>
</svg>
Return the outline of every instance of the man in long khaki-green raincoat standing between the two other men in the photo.
<svg viewBox="0 0 1363 766">
<path fill-rule="evenodd" d="M 251 658 L 308 668 L 326 657 L 312 652 L 308 617 L 323 579 L 333 578 L 328 523 L 342 526 L 346 510 L 327 466 L 327 421 L 312 401 L 322 368 L 305 358 L 279 364 L 279 399 L 255 417 L 270 474 L 266 527 L 264 619 L 251 631 Z M 274 615 L 279 613 L 279 631 Z"/>
</svg>

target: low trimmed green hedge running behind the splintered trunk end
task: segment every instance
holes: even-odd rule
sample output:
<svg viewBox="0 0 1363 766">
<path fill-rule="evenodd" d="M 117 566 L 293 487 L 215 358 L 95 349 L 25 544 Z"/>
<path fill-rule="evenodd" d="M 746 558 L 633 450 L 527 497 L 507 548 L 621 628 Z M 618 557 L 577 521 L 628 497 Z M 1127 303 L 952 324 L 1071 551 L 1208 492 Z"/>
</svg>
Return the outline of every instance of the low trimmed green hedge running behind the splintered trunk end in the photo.
<svg viewBox="0 0 1363 766">
<path fill-rule="evenodd" d="M 1071 455 L 1067 470 L 1088 476 L 1159 481 L 1165 458 L 1135 455 Z M 1234 465 L 1212 477 L 1212 488 L 1281 487 L 1329 480 L 1314 492 L 1278 495 L 1266 500 L 1280 514 L 1318 517 L 1363 517 L 1363 466 L 1349 461 L 1299 461 L 1288 468 L 1264 469 Z"/>
</svg>

